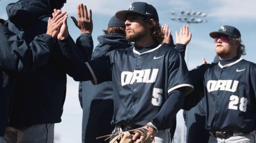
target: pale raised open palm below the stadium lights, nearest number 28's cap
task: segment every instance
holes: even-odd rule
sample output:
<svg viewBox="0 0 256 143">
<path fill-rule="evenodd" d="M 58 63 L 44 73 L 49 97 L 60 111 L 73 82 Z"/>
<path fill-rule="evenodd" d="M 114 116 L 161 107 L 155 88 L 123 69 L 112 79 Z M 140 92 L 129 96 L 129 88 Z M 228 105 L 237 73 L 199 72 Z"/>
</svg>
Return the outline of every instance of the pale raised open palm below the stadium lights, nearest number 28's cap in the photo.
<svg viewBox="0 0 256 143">
<path fill-rule="evenodd" d="M 189 32 L 189 27 L 183 25 L 183 27 L 180 28 L 180 35 L 178 35 L 178 31 L 176 33 L 176 44 L 189 44 L 192 34 Z"/>
</svg>

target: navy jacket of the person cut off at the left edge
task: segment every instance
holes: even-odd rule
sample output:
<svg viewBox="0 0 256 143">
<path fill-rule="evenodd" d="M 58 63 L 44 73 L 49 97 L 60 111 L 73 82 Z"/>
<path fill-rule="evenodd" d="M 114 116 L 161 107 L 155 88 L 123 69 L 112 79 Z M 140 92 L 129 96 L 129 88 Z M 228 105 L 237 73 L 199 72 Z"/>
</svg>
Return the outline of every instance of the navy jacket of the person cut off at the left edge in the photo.
<svg viewBox="0 0 256 143">
<path fill-rule="evenodd" d="M 0 19 L 0 136 L 4 136 L 8 122 L 9 104 L 16 76 L 40 67 L 48 59 L 54 39 L 50 35 L 39 35 L 27 45 L 25 40 L 8 29 L 8 22 Z M 41 60 L 40 60 L 41 59 Z"/>
</svg>

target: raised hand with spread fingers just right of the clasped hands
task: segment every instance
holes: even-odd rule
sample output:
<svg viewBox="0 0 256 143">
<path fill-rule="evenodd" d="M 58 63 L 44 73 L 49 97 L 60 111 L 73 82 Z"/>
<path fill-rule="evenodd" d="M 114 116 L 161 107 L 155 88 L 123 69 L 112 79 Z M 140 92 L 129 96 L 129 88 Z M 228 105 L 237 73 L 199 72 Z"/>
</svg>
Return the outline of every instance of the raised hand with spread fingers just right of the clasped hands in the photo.
<svg viewBox="0 0 256 143">
<path fill-rule="evenodd" d="M 77 7 L 77 16 L 76 18 L 71 17 L 76 27 L 78 27 L 82 33 L 90 33 L 92 34 L 93 23 L 92 23 L 92 10 L 89 10 L 89 15 L 87 12 L 86 5 L 79 4 Z"/>
</svg>

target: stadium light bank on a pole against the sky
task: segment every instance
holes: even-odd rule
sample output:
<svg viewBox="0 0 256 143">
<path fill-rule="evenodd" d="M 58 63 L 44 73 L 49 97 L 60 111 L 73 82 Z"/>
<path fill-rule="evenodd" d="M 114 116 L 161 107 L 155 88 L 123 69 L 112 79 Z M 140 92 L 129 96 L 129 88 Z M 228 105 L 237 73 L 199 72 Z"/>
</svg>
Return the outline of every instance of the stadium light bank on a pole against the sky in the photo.
<svg viewBox="0 0 256 143">
<path fill-rule="evenodd" d="M 206 13 L 202 12 L 195 12 L 195 11 L 181 11 L 180 14 L 171 12 L 173 15 L 171 17 L 171 20 L 178 21 L 178 22 L 185 22 L 189 26 L 190 24 L 198 24 L 202 22 L 207 22 L 207 20 L 204 19 L 206 17 Z M 187 50 L 185 51 L 185 61 L 187 63 L 187 66 L 189 66 L 189 45 L 187 45 Z"/>
</svg>

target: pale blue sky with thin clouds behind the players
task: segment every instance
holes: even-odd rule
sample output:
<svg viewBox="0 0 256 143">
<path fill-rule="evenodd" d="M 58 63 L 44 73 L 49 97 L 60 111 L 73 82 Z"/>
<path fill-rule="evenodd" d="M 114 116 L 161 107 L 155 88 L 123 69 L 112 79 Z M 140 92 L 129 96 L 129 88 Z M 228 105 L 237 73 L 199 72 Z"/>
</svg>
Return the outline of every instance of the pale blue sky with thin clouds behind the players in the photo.
<svg viewBox="0 0 256 143">
<path fill-rule="evenodd" d="M 107 28 L 109 19 L 119 10 L 128 10 L 132 2 L 137 0 L 67 0 L 63 7 L 70 16 L 76 16 L 76 7 L 79 3 L 87 5 L 93 13 L 93 39 L 94 46 L 98 44 L 97 36 L 102 35 Z M 0 1 L 0 18 L 7 19 L 5 6 L 16 0 Z M 202 63 L 202 56 L 206 61 L 212 62 L 215 56 L 213 39 L 209 33 L 218 30 L 222 25 L 232 25 L 240 30 L 242 42 L 246 46 L 246 56 L 243 59 L 256 62 L 256 12 L 255 0 L 144 0 L 156 7 L 160 24 L 169 24 L 175 39 L 175 31 L 187 23 L 173 21 L 171 11 L 196 11 L 206 13 L 204 17 L 208 22 L 190 24 L 192 40 L 188 50 L 188 67 L 192 69 Z M 68 19 L 69 33 L 75 40 L 80 35 L 73 21 Z M 175 40 L 174 40 L 175 41 Z M 67 79 L 67 97 L 64 104 L 62 122 L 55 125 L 56 143 L 80 143 L 82 110 L 78 102 L 78 82 L 72 78 Z M 182 126 L 183 119 L 179 112 L 178 126 Z M 177 134 L 176 134 L 177 135 Z"/>
</svg>

